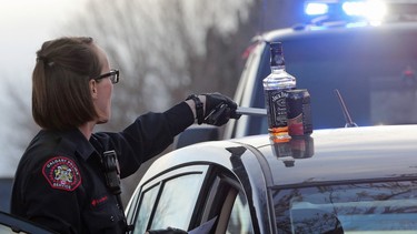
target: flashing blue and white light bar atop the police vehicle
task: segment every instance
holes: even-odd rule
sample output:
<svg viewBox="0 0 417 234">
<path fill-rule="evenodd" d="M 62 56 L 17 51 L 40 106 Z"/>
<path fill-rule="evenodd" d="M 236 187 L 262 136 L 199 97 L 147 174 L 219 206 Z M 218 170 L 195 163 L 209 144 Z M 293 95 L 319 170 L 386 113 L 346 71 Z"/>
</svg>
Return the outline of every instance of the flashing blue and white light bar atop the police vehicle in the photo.
<svg viewBox="0 0 417 234">
<path fill-rule="evenodd" d="M 311 17 L 331 16 L 340 19 L 381 21 L 387 14 L 387 6 L 381 0 L 316 0 L 306 1 L 305 13 Z"/>
</svg>

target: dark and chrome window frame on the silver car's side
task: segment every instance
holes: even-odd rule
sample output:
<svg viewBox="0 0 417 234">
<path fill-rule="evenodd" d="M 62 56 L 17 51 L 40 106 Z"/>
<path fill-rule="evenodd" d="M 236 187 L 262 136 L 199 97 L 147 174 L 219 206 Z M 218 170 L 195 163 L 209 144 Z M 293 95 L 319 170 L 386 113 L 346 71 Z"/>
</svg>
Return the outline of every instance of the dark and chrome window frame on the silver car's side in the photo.
<svg viewBox="0 0 417 234">
<path fill-rule="evenodd" d="M 160 172 L 150 180 L 141 182 L 138 192 L 135 193 L 135 199 L 131 204 L 133 207 L 130 207 L 129 210 L 128 222 L 135 224 L 139 218 L 139 205 L 142 203 L 143 194 L 155 186 L 160 186 L 157 192 L 156 202 L 151 207 L 151 214 L 146 223 L 146 228 L 149 230 L 155 218 L 155 213 L 163 191 L 165 182 L 188 174 L 201 174 L 202 176 L 200 187 L 198 189 L 199 193 L 196 206 L 193 207 L 192 216 L 189 220 L 188 230 L 193 230 L 217 216 L 215 223 L 216 227 L 214 228 L 216 228 L 216 233 L 225 233 L 228 228 L 236 197 L 240 192 L 246 196 L 246 192 L 232 172 L 215 164 L 187 164 Z M 250 216 L 252 214 L 250 213 Z M 225 221 L 219 222 L 221 218 L 225 218 Z"/>
</svg>

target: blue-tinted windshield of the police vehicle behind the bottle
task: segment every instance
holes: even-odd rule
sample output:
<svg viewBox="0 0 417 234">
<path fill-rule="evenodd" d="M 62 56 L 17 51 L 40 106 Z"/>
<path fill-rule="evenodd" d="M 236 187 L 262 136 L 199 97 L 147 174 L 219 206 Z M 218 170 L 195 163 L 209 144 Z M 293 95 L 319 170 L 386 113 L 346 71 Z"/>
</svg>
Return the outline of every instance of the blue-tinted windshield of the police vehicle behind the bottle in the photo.
<svg viewBox="0 0 417 234">
<path fill-rule="evenodd" d="M 311 95 L 315 129 L 340 128 L 345 118 L 339 90 L 358 125 L 417 123 L 417 30 L 367 28 L 278 38 L 287 71 L 298 89 Z M 257 73 L 252 105 L 265 106 L 261 80 L 270 73 L 266 47 Z M 251 118 L 249 134 L 266 130 L 265 118 Z"/>
</svg>

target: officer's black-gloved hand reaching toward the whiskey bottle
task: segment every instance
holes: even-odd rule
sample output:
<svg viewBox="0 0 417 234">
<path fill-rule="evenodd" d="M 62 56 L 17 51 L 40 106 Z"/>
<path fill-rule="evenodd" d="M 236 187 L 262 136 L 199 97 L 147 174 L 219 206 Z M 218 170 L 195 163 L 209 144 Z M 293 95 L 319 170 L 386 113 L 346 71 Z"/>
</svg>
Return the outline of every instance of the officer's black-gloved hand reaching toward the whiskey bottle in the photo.
<svg viewBox="0 0 417 234">
<path fill-rule="evenodd" d="M 230 98 L 220 93 L 205 93 L 206 95 L 206 111 L 203 123 L 221 126 L 229 121 L 229 119 L 239 119 L 236 114 L 238 105 Z"/>
</svg>

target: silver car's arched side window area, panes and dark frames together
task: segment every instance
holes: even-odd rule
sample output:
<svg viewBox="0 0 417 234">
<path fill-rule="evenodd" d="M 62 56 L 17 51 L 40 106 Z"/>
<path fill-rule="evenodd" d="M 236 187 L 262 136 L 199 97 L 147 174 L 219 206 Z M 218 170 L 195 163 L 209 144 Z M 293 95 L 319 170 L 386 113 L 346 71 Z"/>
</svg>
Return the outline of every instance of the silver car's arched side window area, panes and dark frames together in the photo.
<svg viewBox="0 0 417 234">
<path fill-rule="evenodd" d="M 197 164 L 171 169 L 141 182 L 127 210 L 133 233 L 211 224 L 216 233 L 254 233 L 244 190 L 225 167 Z"/>
</svg>

